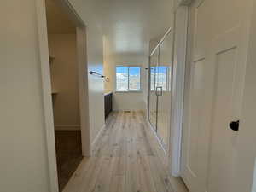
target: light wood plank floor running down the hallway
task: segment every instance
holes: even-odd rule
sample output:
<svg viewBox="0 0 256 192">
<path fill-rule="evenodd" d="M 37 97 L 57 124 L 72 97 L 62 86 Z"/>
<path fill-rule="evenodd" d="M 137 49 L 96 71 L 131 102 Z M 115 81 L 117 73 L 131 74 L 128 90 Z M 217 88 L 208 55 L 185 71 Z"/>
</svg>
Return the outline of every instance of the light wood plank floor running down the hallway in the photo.
<svg viewBox="0 0 256 192">
<path fill-rule="evenodd" d="M 116 112 L 63 191 L 188 192 L 167 172 L 165 154 L 143 113 Z"/>
</svg>

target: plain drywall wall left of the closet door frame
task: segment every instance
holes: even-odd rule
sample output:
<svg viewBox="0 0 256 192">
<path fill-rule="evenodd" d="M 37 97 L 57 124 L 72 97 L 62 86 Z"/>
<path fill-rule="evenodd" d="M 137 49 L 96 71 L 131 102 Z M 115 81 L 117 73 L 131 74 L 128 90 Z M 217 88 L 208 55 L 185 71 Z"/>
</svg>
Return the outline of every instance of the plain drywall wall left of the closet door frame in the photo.
<svg viewBox="0 0 256 192">
<path fill-rule="evenodd" d="M 0 23 L 0 191 L 49 192 L 36 1 L 5 1 Z"/>
</svg>

